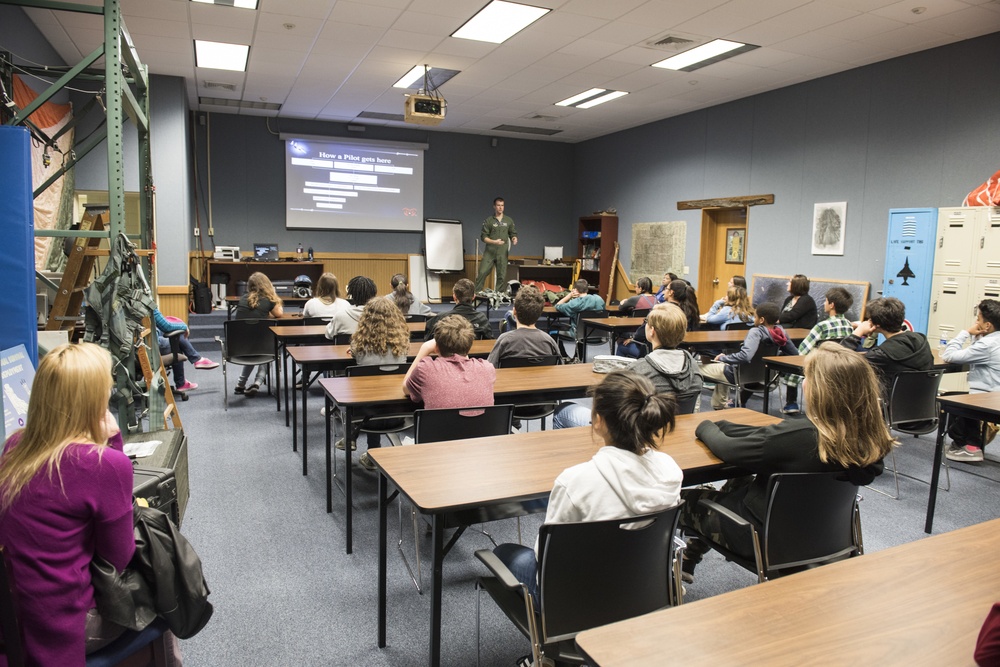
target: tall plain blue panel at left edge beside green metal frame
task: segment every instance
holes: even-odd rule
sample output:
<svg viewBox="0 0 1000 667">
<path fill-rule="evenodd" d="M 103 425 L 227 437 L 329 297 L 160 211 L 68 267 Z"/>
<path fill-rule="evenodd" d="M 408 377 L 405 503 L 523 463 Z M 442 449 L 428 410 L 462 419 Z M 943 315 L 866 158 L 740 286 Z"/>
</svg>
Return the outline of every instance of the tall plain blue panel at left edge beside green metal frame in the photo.
<svg viewBox="0 0 1000 667">
<path fill-rule="evenodd" d="M 27 128 L 0 126 L 0 350 L 23 344 L 38 366 L 35 212 Z"/>
</svg>

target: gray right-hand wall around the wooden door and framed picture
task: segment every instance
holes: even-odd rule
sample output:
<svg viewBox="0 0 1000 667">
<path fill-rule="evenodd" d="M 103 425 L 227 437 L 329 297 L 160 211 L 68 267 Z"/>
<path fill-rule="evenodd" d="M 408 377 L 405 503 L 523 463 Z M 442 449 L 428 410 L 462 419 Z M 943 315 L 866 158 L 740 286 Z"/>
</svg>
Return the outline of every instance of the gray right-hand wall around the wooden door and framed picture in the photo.
<svg viewBox="0 0 1000 667">
<path fill-rule="evenodd" d="M 677 202 L 769 194 L 750 209 L 747 273 L 882 285 L 888 210 L 959 206 L 1000 168 L 1000 33 L 651 123 L 576 146 L 574 210 L 615 206 L 631 224 L 688 222 Z M 843 257 L 811 256 L 813 204 L 847 202 Z"/>
</svg>

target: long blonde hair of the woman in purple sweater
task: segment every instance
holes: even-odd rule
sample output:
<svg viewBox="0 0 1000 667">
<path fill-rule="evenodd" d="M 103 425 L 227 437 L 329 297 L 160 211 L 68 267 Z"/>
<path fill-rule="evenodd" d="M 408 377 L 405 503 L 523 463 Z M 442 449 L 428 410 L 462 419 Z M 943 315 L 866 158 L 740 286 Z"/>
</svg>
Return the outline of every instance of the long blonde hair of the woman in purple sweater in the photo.
<svg viewBox="0 0 1000 667">
<path fill-rule="evenodd" d="M 111 355 L 103 347 L 60 345 L 42 358 L 27 425 L 17 445 L 0 458 L 0 513 L 43 469 L 49 479 L 59 476 L 63 452 L 72 443 L 107 445 L 103 424 L 112 386 Z"/>
</svg>

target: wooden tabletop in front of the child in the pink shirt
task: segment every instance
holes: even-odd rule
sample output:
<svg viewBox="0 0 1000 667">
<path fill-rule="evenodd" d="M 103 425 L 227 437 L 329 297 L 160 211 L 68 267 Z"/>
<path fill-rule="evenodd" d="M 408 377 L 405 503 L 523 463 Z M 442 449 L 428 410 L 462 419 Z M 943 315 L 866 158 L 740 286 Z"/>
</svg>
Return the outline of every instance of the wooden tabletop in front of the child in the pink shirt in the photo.
<svg viewBox="0 0 1000 667">
<path fill-rule="evenodd" d="M 493 395 L 498 403 L 503 402 L 504 395 L 512 394 L 562 392 L 582 395 L 587 387 L 599 383 L 603 377 L 594 373 L 593 364 L 500 368 Z M 342 406 L 413 405 L 403 393 L 403 381 L 398 375 L 324 378 L 319 383 L 330 398 Z"/>
</svg>

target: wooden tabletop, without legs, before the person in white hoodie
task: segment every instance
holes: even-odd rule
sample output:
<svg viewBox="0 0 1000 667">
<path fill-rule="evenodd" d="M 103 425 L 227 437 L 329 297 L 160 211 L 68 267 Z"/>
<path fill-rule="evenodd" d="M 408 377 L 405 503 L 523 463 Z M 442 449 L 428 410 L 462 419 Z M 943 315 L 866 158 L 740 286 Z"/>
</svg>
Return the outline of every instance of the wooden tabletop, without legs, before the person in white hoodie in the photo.
<svg viewBox="0 0 1000 667">
<path fill-rule="evenodd" d="M 781 421 L 745 408 L 678 415 L 676 428 L 661 438 L 659 448 L 685 472 L 722 466 L 694 437 L 706 419 L 754 426 Z M 601 444 L 585 426 L 380 447 L 369 455 L 421 512 L 435 514 L 547 496 L 559 473 L 590 460 Z"/>
</svg>

